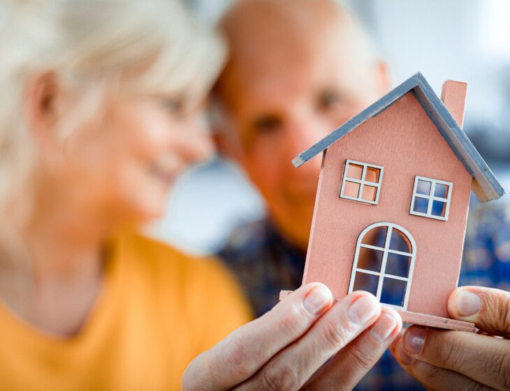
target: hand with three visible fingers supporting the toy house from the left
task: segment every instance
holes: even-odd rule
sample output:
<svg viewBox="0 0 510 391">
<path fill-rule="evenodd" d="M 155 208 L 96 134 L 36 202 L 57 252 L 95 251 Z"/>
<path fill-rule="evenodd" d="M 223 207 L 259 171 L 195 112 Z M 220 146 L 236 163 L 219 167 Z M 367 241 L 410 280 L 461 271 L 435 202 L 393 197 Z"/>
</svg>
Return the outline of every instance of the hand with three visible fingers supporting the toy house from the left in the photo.
<svg viewBox="0 0 510 391">
<path fill-rule="evenodd" d="M 196 357 L 182 389 L 351 390 L 401 327 L 370 293 L 333 304 L 326 286 L 310 283 Z"/>
</svg>

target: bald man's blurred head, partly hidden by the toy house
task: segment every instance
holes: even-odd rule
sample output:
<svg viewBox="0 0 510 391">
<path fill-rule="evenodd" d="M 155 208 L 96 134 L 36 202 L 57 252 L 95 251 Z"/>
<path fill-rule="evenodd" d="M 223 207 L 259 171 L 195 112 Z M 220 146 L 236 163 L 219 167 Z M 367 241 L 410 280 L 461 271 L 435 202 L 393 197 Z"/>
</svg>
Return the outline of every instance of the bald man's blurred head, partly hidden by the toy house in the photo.
<svg viewBox="0 0 510 391">
<path fill-rule="evenodd" d="M 231 131 L 219 140 L 305 249 L 321 162 L 291 160 L 384 94 L 385 68 L 332 0 L 240 0 L 221 29 L 231 55 L 216 91 Z"/>
</svg>

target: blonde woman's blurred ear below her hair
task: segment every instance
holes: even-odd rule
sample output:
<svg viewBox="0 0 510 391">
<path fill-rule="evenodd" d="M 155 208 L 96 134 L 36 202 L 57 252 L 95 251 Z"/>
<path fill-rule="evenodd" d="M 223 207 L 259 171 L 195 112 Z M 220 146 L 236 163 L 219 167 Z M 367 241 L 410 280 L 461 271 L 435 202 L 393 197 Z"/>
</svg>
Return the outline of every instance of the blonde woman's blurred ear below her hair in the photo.
<svg viewBox="0 0 510 391">
<path fill-rule="evenodd" d="M 59 121 L 61 90 L 57 77 L 52 72 L 36 75 L 25 90 L 25 112 L 34 136 L 48 140 L 54 135 Z"/>
</svg>

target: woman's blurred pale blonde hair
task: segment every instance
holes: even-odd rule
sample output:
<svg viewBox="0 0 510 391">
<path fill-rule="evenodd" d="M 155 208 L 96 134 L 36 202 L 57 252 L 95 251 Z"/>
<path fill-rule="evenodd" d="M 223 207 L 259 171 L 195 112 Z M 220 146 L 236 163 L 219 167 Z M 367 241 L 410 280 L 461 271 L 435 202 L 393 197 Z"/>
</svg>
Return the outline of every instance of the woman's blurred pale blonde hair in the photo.
<svg viewBox="0 0 510 391">
<path fill-rule="evenodd" d="M 2 0 L 0 208 L 13 207 L 10 196 L 24 191 L 34 165 L 23 113 L 32 75 L 51 71 L 86 96 L 144 66 L 131 78 L 134 91 L 194 99 L 210 87 L 224 54 L 222 40 L 194 22 L 178 0 Z"/>
</svg>

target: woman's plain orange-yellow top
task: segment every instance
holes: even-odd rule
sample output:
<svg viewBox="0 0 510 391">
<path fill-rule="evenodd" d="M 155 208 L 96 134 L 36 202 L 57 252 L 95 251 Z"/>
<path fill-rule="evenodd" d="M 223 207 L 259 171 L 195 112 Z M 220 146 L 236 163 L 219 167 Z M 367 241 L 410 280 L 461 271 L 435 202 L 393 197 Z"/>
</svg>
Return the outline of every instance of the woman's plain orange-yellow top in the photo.
<svg viewBox="0 0 510 391">
<path fill-rule="evenodd" d="M 187 364 L 250 318 L 219 263 L 140 235 L 112 241 L 103 292 L 72 338 L 0 304 L 0 390 L 179 390 Z"/>
</svg>

